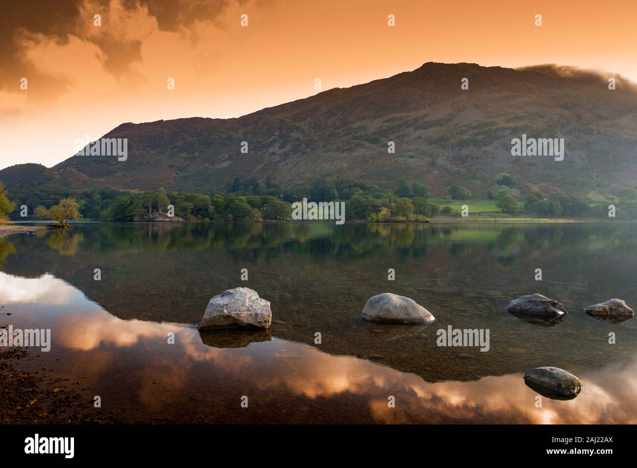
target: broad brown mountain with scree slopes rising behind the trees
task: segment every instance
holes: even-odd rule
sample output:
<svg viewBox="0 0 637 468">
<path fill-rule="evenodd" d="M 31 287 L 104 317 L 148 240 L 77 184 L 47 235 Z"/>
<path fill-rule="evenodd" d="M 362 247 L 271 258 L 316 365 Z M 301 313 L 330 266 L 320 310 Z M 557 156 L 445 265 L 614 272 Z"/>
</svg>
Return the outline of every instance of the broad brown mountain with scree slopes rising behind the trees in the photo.
<svg viewBox="0 0 637 468">
<path fill-rule="evenodd" d="M 522 134 L 563 137 L 564 160 L 512 156 Z M 125 162 L 71 156 L 51 169 L 1 170 L 0 180 L 10 189 L 37 182 L 204 191 L 234 176 L 269 176 L 284 187 L 347 176 L 392 188 L 398 178 L 422 179 L 430 193 L 459 184 L 483 195 L 508 172 L 529 188 L 609 191 L 637 182 L 637 86 L 617 76 L 609 90 L 607 76 L 555 65 L 427 63 L 240 118 L 123 123 L 104 137 L 128 139 Z"/>
</svg>

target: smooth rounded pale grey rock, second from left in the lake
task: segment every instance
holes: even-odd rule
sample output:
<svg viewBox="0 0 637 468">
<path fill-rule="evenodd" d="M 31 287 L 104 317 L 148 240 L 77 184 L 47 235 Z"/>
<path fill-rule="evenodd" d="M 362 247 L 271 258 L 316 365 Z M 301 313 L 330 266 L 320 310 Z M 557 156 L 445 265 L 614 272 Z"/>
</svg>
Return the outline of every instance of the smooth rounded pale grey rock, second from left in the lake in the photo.
<svg viewBox="0 0 637 468">
<path fill-rule="evenodd" d="M 369 298 L 362 318 L 371 322 L 429 324 L 435 320 L 431 312 L 410 298 L 383 292 Z"/>
</svg>

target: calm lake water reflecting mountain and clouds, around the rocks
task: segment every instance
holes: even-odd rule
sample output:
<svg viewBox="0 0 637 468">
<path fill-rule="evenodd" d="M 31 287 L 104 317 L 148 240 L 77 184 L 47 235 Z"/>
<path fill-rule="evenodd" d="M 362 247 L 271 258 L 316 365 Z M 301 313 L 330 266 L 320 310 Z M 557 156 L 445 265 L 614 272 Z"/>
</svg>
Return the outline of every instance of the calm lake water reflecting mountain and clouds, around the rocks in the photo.
<svg viewBox="0 0 637 468">
<path fill-rule="evenodd" d="M 637 305 L 636 254 L 637 224 L 78 223 L 0 238 L 0 326 L 52 329 L 50 352 L 19 365 L 128 422 L 635 423 L 637 320 L 582 309 Z M 271 301 L 271 331 L 200 334 L 208 300 L 237 286 Z M 362 320 L 380 292 L 436 321 Z M 533 292 L 568 315 L 506 311 Z M 449 325 L 489 329 L 489 351 L 438 347 Z M 536 408 L 522 376 L 538 366 L 582 392 Z"/>
</svg>

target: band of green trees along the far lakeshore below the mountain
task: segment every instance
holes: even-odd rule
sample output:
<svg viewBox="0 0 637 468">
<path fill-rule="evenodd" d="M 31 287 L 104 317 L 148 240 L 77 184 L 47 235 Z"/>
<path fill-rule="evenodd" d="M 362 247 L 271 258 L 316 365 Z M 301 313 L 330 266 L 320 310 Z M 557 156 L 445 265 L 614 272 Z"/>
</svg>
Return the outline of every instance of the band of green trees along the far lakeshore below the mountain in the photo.
<svg viewBox="0 0 637 468">
<path fill-rule="evenodd" d="M 499 174 L 500 186 L 513 187 L 517 181 L 509 174 Z M 461 186 L 447 188 L 452 200 L 469 200 L 471 191 Z M 617 191 L 618 213 L 637 218 L 637 190 Z M 347 177 L 317 177 L 309 184 L 282 188 L 266 177 L 234 177 L 222 189 L 203 193 L 183 193 L 157 188 L 131 193 L 114 189 L 48 189 L 21 186 L 7 191 L 0 182 L 0 217 L 6 219 L 55 219 L 67 224 L 69 219 L 92 221 L 140 221 L 148 215 L 164 213 L 172 205 L 173 214 L 186 221 L 290 221 L 292 203 L 307 198 L 313 202 L 345 202 L 346 219 L 377 222 L 426 221 L 440 214 L 459 216 L 450 206 L 429 202 L 422 181 L 397 179 L 394 189 L 380 188 L 369 181 Z M 506 189 L 487 198 L 496 200 L 497 210 L 517 216 L 520 212 L 515 197 Z M 28 215 L 20 216 L 20 206 L 27 205 Z M 608 216 L 608 203 L 595 205 L 585 198 L 563 193 L 543 194 L 532 190 L 526 195 L 525 214 L 538 217 L 603 217 Z"/>
</svg>

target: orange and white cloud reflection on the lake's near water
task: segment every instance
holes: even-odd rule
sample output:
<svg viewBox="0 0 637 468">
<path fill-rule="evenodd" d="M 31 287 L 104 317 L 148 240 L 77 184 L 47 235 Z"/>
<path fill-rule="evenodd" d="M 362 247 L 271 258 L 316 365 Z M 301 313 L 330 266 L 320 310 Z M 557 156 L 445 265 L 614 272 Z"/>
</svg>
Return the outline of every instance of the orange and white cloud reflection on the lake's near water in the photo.
<svg viewBox="0 0 637 468">
<path fill-rule="evenodd" d="M 348 414 L 334 415 L 327 422 L 637 422 L 635 360 L 578 375 L 583 390 L 575 400 L 543 398 L 542 408 L 536 408 L 536 394 L 524 385 L 523 373 L 487 376 L 473 382 L 429 383 L 383 364 L 327 354 L 276 337 L 272 341 L 255 338 L 247 345 L 243 336 L 238 345 L 244 347 L 211 347 L 192 326 L 118 319 L 86 298 L 78 300 L 83 297 L 80 291 L 51 275 L 22 279 L 0 273 L 0 291 L 3 301 L 10 298 L 45 306 L 52 300 L 57 305 L 66 300 L 64 313 L 48 315 L 42 307 L 22 317 L 22 326 L 51 327 L 51 354 L 68 349 L 69 359 L 74 364 L 82 362 L 82 372 L 92 374 L 94 380 L 112 380 L 117 373 L 129 373 L 125 392 L 120 385 L 117 399 L 122 406 L 141 405 L 140 411 L 148 415 L 171 414 L 175 402 L 183 406 L 196 399 L 201 408 L 224 408 L 230 418 L 239 409 L 224 406 L 226 399 L 234 398 L 233 392 L 240 389 L 236 392 L 257 395 L 259 404 L 267 403 L 270 411 L 278 411 L 282 421 L 287 417 L 283 409 L 296 408 L 299 401 L 329 414 L 336 401 L 347 399 L 354 402 Z M 175 333 L 175 345 L 167 343 L 169 332 Z M 113 352 L 112 357 L 104 355 L 106 348 Z M 128 368 L 122 370 L 118 361 L 124 361 Z M 395 408 L 387 405 L 388 396 L 396 397 Z M 362 408 L 359 416 L 357 408 Z M 180 414 L 186 418 L 184 422 L 196 417 L 175 410 L 175 418 Z M 259 422 L 261 416 L 253 414 Z"/>
</svg>

